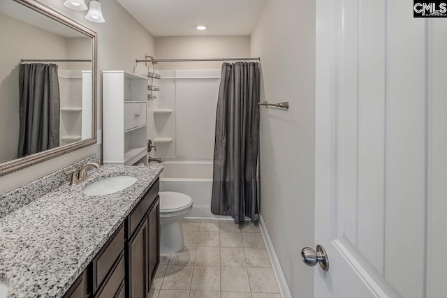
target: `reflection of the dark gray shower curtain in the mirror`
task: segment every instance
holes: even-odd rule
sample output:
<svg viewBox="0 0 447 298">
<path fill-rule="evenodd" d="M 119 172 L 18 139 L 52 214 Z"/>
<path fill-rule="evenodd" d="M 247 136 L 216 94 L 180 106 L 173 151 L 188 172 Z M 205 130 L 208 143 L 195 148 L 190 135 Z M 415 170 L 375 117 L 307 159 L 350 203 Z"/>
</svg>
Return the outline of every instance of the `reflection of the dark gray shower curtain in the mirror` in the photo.
<svg viewBox="0 0 447 298">
<path fill-rule="evenodd" d="M 20 65 L 18 157 L 59 147 L 59 80 L 56 64 Z"/>
</svg>

